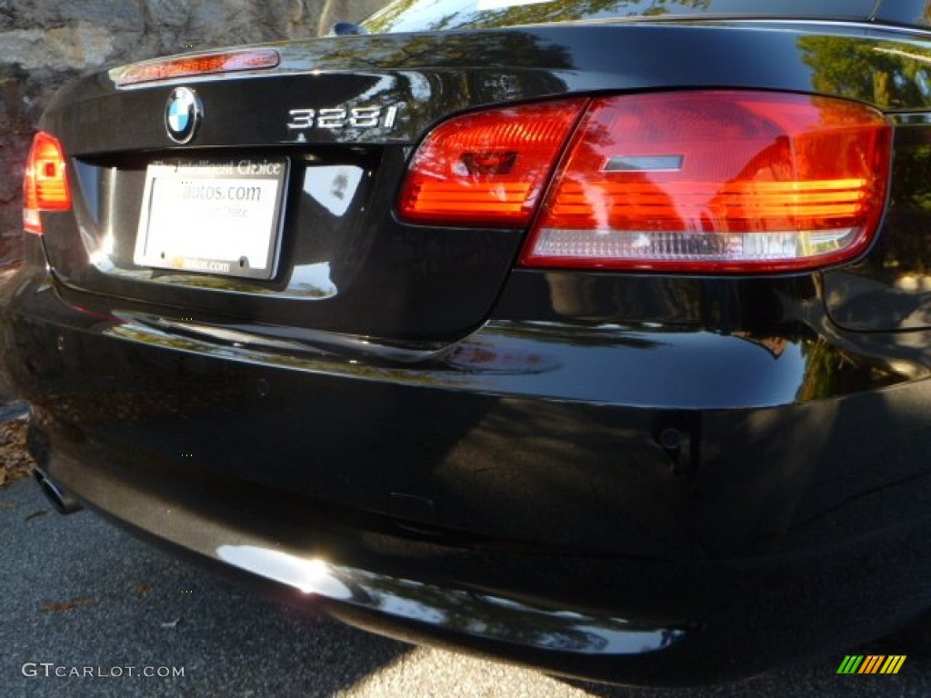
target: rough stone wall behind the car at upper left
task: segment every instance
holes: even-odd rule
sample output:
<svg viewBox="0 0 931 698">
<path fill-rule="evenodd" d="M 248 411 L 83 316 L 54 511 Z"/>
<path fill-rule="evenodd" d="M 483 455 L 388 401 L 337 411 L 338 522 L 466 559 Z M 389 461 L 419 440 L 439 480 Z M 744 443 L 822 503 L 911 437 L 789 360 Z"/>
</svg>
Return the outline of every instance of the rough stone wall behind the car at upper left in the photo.
<svg viewBox="0 0 931 698">
<path fill-rule="evenodd" d="M 0 264 L 20 255 L 34 125 L 76 75 L 154 56 L 307 38 L 386 0 L 0 0 Z"/>
</svg>

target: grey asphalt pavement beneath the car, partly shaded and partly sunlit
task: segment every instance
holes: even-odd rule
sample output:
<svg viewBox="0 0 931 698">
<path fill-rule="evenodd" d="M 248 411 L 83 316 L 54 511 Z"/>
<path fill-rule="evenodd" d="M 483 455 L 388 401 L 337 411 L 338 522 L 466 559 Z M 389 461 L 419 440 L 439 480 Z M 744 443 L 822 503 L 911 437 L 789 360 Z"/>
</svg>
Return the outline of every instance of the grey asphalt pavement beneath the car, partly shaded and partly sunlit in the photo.
<svg viewBox="0 0 931 698">
<path fill-rule="evenodd" d="M 843 656 L 829 656 L 735 684 L 643 690 L 412 647 L 257 596 L 88 512 L 61 517 L 28 481 L 0 490 L 0 541 L 4 698 L 931 695 L 931 655 L 914 653 L 897 676 L 838 676 Z M 889 639 L 852 652 L 903 653 Z"/>
</svg>

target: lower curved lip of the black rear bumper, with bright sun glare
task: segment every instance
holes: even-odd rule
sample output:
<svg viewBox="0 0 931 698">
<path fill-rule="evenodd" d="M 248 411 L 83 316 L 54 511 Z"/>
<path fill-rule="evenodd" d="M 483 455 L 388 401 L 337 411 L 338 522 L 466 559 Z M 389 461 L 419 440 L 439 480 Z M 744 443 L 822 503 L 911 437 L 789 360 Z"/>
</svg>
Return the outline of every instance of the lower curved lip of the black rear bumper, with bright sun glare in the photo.
<svg viewBox="0 0 931 698">
<path fill-rule="evenodd" d="M 569 677 L 670 686 L 747 677 L 843 653 L 931 600 L 926 521 L 852 540 L 839 532 L 805 554 L 591 557 L 438 540 L 208 477 L 128 474 L 61 455 L 46 465 L 142 539 L 287 602 Z"/>
</svg>

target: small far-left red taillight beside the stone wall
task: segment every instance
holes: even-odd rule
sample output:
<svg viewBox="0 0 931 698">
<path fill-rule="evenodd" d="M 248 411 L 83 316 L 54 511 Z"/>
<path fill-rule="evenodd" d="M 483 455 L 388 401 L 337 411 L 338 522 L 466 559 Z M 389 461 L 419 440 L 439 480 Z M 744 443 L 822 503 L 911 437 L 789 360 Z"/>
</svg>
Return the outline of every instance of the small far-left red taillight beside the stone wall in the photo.
<svg viewBox="0 0 931 698">
<path fill-rule="evenodd" d="M 64 173 L 61 143 L 43 131 L 35 134 L 22 181 L 22 224 L 30 233 L 42 234 L 39 211 L 71 208 L 71 192 Z"/>
</svg>

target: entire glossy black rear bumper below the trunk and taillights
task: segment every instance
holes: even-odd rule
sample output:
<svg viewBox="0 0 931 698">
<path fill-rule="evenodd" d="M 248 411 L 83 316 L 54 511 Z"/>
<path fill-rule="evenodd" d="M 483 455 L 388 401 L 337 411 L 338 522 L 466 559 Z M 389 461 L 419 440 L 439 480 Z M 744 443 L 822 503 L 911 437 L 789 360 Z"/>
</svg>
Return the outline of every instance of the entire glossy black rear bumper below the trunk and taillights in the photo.
<svg viewBox="0 0 931 698">
<path fill-rule="evenodd" d="M 78 299 L 35 267 L 3 293 L 48 477 L 353 623 L 676 683 L 931 606 L 931 386 L 888 337 L 579 342 L 578 324 L 499 318 L 452 347 L 299 352 Z M 846 363 L 805 399 L 826 355 Z"/>
</svg>

